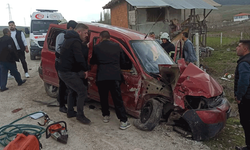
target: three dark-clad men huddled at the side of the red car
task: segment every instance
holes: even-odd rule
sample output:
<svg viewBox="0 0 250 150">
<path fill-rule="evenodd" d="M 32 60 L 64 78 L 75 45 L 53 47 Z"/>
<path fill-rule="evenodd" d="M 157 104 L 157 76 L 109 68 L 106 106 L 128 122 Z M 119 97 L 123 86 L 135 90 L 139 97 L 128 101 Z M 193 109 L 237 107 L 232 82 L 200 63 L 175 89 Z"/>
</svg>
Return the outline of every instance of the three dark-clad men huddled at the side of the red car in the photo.
<svg viewBox="0 0 250 150">
<path fill-rule="evenodd" d="M 111 93 L 115 112 L 120 120 L 120 129 L 131 125 L 126 116 L 120 84 L 122 73 L 120 66 L 125 63 L 119 44 L 110 41 L 108 31 L 102 31 L 100 43 L 94 46 L 90 64 L 88 64 L 88 26 L 71 20 L 67 23 L 67 31 L 56 38 L 55 68 L 59 76 L 59 111 L 67 113 L 68 118 L 76 117 L 83 124 L 91 121 L 84 114 L 84 103 L 87 100 L 88 71 L 90 64 L 97 65 L 96 85 L 102 107 L 103 122 L 110 120 L 108 95 Z M 66 92 L 68 91 L 68 92 Z M 67 95 L 67 107 L 65 94 Z M 77 111 L 74 110 L 76 103 Z"/>
</svg>

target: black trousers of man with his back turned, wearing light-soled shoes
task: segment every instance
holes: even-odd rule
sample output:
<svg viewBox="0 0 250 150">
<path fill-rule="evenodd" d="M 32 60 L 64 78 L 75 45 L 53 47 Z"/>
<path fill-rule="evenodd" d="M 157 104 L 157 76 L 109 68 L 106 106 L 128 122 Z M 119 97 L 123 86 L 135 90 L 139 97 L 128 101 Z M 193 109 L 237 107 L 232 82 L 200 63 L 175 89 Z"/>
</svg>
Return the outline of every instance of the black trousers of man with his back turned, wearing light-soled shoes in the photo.
<svg viewBox="0 0 250 150">
<path fill-rule="evenodd" d="M 97 86 L 102 106 L 102 115 L 103 116 L 110 115 L 109 102 L 108 102 L 108 95 L 110 92 L 114 102 L 115 113 L 117 118 L 120 119 L 120 121 L 122 122 L 126 122 L 128 118 L 126 116 L 126 110 L 124 108 L 122 100 L 120 81 L 115 81 L 115 80 L 98 81 Z"/>
</svg>

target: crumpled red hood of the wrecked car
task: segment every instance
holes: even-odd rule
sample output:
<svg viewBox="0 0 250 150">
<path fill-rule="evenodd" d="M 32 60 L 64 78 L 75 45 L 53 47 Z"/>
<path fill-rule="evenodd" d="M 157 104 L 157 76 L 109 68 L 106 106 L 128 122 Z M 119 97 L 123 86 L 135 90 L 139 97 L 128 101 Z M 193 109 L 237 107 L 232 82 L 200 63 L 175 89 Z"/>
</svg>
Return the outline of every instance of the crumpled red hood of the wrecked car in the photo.
<svg viewBox="0 0 250 150">
<path fill-rule="evenodd" d="M 186 65 L 184 59 L 180 59 L 178 67 L 180 77 L 173 90 L 175 106 L 185 109 L 184 99 L 187 95 L 210 98 L 219 96 L 223 92 L 223 88 L 218 82 L 193 63 Z"/>
</svg>

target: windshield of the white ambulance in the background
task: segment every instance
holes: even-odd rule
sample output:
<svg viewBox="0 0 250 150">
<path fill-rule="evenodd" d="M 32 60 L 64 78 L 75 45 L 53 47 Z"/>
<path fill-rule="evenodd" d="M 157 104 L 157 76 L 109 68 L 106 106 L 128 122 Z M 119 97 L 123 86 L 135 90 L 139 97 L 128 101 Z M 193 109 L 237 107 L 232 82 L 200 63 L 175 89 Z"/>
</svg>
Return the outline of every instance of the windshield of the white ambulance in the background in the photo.
<svg viewBox="0 0 250 150">
<path fill-rule="evenodd" d="M 31 33 L 47 33 L 50 24 L 58 24 L 57 20 L 32 20 Z"/>
</svg>

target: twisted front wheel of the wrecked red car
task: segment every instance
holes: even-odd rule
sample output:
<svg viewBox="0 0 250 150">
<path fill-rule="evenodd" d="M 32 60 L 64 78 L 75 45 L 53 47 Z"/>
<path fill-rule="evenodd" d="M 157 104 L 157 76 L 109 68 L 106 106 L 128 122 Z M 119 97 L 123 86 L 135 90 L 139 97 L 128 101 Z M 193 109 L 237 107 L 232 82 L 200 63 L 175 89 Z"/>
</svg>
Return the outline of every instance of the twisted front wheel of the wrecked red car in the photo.
<svg viewBox="0 0 250 150">
<path fill-rule="evenodd" d="M 163 103 L 150 99 L 143 106 L 140 119 L 134 121 L 134 126 L 144 131 L 153 130 L 160 122 L 162 109 Z"/>
</svg>

